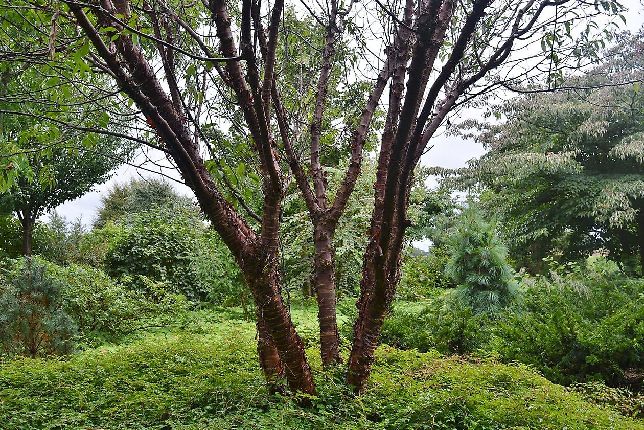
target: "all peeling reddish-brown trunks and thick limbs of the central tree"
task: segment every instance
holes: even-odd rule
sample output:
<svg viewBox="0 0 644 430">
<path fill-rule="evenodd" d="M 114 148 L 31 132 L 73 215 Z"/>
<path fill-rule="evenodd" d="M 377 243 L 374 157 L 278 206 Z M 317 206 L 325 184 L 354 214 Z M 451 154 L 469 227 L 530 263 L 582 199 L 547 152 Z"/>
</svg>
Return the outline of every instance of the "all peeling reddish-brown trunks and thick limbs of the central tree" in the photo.
<svg viewBox="0 0 644 430">
<path fill-rule="evenodd" d="M 349 7 L 352 3 L 349 3 Z M 190 123 L 184 117 L 184 113 L 187 116 L 189 113 L 182 112 L 183 101 L 179 100 L 181 94 L 176 88 L 178 81 L 176 79 L 167 81 L 170 92 L 167 94 L 164 90 L 165 84 L 160 83 L 160 79 L 147 63 L 146 53 L 140 50 L 138 44 L 133 43 L 129 35 L 138 30 L 124 28 L 124 23 L 129 22 L 130 17 L 129 2 L 100 0 L 83 5 L 68 2 L 77 23 L 96 48 L 98 56 L 92 57 L 95 61 L 94 65 L 113 76 L 120 89 L 135 101 L 147 121 L 154 124 L 155 132 L 158 133 L 158 138 L 164 146 L 163 149 L 175 161 L 186 184 L 193 189 L 202 210 L 242 268 L 243 276 L 251 288 L 258 308 L 260 334 L 258 353 L 271 384 L 274 384 L 279 374 L 283 373 L 292 390 L 308 394 L 315 393 L 303 344 L 290 320 L 280 291 L 278 233 L 280 204 L 284 192 L 281 181 L 285 175 L 280 170 L 275 151 L 277 145 L 272 135 L 271 118 L 277 119 L 290 168 L 314 220 L 317 293 L 321 344 L 323 344 L 321 355 L 326 365 L 339 361 L 333 270 L 334 232 L 360 173 L 362 150 L 370 121 L 386 88 L 386 83 L 393 75 L 390 107 L 374 186 L 375 210 L 365 253 L 361 298 L 357 304 L 359 317 L 354 325 L 354 347 L 347 376 L 348 383 L 355 387 L 355 391 L 362 392 L 366 387 L 366 378 L 373 362 L 377 338 L 399 277 L 403 237 L 409 225 L 406 219 L 408 193 L 411 189 L 413 169 L 422 150 L 436 132 L 446 113 L 455 106 L 458 97 L 486 72 L 502 64 L 509 54 L 513 41 L 530 31 L 539 21 L 540 14 L 546 6 L 555 6 L 559 2 L 541 2 L 538 3 L 536 10 L 532 10 L 535 2 L 529 1 L 523 8 L 516 10 L 516 21 L 510 30 L 511 36 L 504 43 L 494 45 L 498 48 L 488 57 L 487 63 L 481 63 L 477 57 L 475 60 L 478 61 L 476 64 L 478 72 L 472 72 L 474 69 L 466 70 L 472 73 L 466 79 L 462 74 L 464 70 L 459 68 L 459 63 L 465 49 L 470 46 L 471 36 L 477 23 L 482 19 L 488 3 L 488 0 L 474 0 L 468 3 L 472 10 L 460 28 L 460 33 L 451 48 L 451 55 L 437 73 L 425 97 L 430 72 L 433 70 L 439 46 L 444 41 L 445 29 L 453 23 L 450 17 L 455 8 L 455 2 L 453 0 L 406 1 L 403 23 L 399 23 L 394 43 L 386 50 L 388 59 L 377 77 L 359 127 L 352 135 L 350 165 L 341 187 L 337 190 L 336 199 L 330 206 L 327 202 L 327 184 L 319 153 L 320 135 L 323 132 L 321 119 L 332 70 L 334 43 L 337 32 L 341 30 L 343 16 L 346 14 L 346 12 L 339 12 L 337 0 L 332 1 L 328 9 L 330 15 L 328 15 L 327 37 L 317 82 L 316 103 L 309 127 L 312 188 L 303 171 L 302 161 L 298 159 L 296 151 L 292 148 L 289 139 L 289 121 L 286 119 L 287 114 L 276 87 L 276 46 L 283 1 L 276 0 L 270 6 L 268 32 L 264 32 L 259 22 L 261 17 L 258 2 L 243 1 L 240 52 L 236 47 L 237 36 L 231 30 L 231 16 L 225 1 L 204 2 L 211 11 L 212 22 L 216 28 L 218 38 L 216 53 L 210 52 L 207 44 L 200 41 L 198 32 L 190 29 L 178 17 L 174 17 L 175 23 L 187 28 L 187 33 L 209 57 L 202 60 L 213 64 L 222 82 L 234 92 L 234 98 L 243 115 L 244 127 L 248 130 L 252 150 L 260 161 L 264 196 L 261 216 L 254 217 L 261 222 L 261 231 L 254 231 L 232 207 L 232 204 L 223 197 L 205 168 L 197 147 L 199 139 L 192 139 Z M 162 5 L 160 0 L 154 2 L 155 6 L 160 4 Z M 147 7 L 149 5 L 144 3 L 144 8 Z M 413 10 L 416 7 L 419 10 L 414 13 Z M 161 59 L 167 75 L 173 75 L 175 73 L 174 55 L 180 52 L 180 48 L 175 50 L 173 46 L 167 46 L 174 38 L 171 28 L 164 20 L 173 12 L 166 6 L 162 5 L 162 8 L 164 8 L 162 14 L 150 14 L 155 35 L 163 36 L 163 32 L 166 33 L 164 40 L 161 37 L 156 37 L 154 40 L 159 51 L 155 58 Z M 97 19 L 88 19 L 85 10 L 90 11 L 88 13 L 95 15 Z M 527 18 L 527 23 L 520 28 L 523 15 L 528 11 L 531 11 L 531 14 Z M 416 17 L 415 22 L 413 17 Z M 99 32 L 94 22 L 99 23 L 104 31 Z M 411 29 L 412 26 L 415 26 L 415 30 Z M 105 32 L 110 27 L 115 30 Z M 139 36 L 149 37 L 142 33 Z M 256 41 L 259 41 L 262 50 L 261 58 L 255 52 Z M 149 48 L 154 43 L 145 46 Z M 410 51 L 411 43 L 413 43 L 412 51 Z M 109 47 L 106 44 L 109 44 Z M 221 55 L 224 59 L 214 58 Z M 412 62 L 407 68 L 410 55 Z M 444 99 L 438 101 L 441 91 L 445 94 Z M 194 134 L 196 135 L 196 132 Z"/>
</svg>

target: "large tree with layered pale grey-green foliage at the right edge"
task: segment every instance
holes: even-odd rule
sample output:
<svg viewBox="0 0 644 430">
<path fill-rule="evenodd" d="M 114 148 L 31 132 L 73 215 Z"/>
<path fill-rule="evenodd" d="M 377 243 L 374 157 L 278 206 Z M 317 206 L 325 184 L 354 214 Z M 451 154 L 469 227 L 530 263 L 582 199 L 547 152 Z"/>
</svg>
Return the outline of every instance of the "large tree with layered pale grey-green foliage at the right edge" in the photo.
<svg viewBox="0 0 644 430">
<path fill-rule="evenodd" d="M 605 64 L 567 78 L 587 89 L 502 106 L 507 121 L 478 135 L 489 152 L 461 172 L 461 184 L 478 182 L 484 206 L 502 213 L 518 267 L 544 271 L 547 255 L 569 261 L 598 249 L 626 271 L 642 267 L 644 34 L 619 41 Z"/>
</svg>

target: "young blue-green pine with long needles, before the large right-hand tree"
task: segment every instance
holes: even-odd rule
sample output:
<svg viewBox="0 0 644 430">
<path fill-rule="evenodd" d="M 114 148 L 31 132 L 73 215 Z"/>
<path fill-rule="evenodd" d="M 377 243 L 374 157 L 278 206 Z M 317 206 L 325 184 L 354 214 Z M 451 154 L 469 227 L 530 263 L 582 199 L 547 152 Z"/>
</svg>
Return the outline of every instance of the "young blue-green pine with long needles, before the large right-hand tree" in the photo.
<svg viewBox="0 0 644 430">
<path fill-rule="evenodd" d="M 475 315 L 495 315 L 518 293 L 507 248 L 496 232 L 496 222 L 486 222 L 477 210 L 462 214 L 450 244 L 446 273 L 459 285 L 455 297 L 471 306 Z"/>
</svg>

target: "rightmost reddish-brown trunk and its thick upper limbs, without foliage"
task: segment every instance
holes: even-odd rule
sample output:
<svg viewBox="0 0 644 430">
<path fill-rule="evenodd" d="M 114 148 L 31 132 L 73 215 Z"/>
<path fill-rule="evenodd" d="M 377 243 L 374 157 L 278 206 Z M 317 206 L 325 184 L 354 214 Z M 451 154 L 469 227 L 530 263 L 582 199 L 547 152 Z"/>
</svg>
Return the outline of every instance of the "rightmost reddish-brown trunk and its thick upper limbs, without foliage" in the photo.
<svg viewBox="0 0 644 430">
<path fill-rule="evenodd" d="M 349 360 L 348 384 L 356 393 L 366 387 L 373 362 L 377 338 L 389 309 L 399 279 L 404 232 L 410 225 L 407 219 L 413 170 L 428 141 L 437 131 L 457 99 L 487 72 L 506 61 L 516 39 L 526 35 L 547 6 L 538 5 L 530 19 L 521 27 L 524 15 L 534 5 L 526 3 L 516 11 L 511 35 L 491 54 L 486 62 L 478 64 L 469 77 L 457 73 L 477 24 L 489 6 L 487 0 L 475 0 L 471 11 L 460 28 L 451 55 L 423 97 L 428 84 L 428 72 L 443 44 L 446 27 L 450 26 L 455 2 L 429 0 L 421 2 L 416 22 L 417 40 L 413 48 L 412 64 L 406 71 L 404 104 L 399 106 L 401 90 L 394 86 L 383 145 L 374 185 L 375 210 L 372 215 L 370 240 L 365 253 L 361 297 L 357 306 L 359 316 L 354 324 L 354 346 Z M 448 85 L 448 81 L 451 83 Z M 445 97 L 437 102 L 440 91 Z M 422 110 L 420 109 L 422 105 Z M 420 112 L 419 112 L 420 110 Z"/>
</svg>

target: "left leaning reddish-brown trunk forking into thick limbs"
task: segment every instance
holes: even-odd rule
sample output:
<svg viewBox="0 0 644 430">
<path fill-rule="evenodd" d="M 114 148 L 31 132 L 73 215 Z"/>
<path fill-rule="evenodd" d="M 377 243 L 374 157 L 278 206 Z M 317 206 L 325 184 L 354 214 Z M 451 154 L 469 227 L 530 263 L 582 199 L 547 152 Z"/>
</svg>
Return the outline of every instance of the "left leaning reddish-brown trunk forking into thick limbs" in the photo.
<svg viewBox="0 0 644 430">
<path fill-rule="evenodd" d="M 193 189 L 202 210 L 238 260 L 258 306 L 258 330 L 260 331 L 258 350 L 269 382 L 273 382 L 284 368 L 287 369 L 284 374 L 293 391 L 314 394 L 315 387 L 303 343 L 295 331 L 280 294 L 277 249 L 279 202 L 282 193 L 281 173 L 272 151 L 270 126 L 265 115 L 268 111 L 265 104 L 261 103 L 261 86 L 258 77 L 250 73 L 251 88 L 249 88 L 239 61 L 227 63 L 228 82 L 236 92 L 252 138 L 258 145 L 257 152 L 264 174 L 265 201 L 261 235 L 251 230 L 249 224 L 225 200 L 214 184 L 188 132 L 187 120 L 178 110 L 177 104 L 173 103 L 171 97 L 164 92 L 145 55 L 140 52 L 138 46 L 133 44 L 129 35 L 118 33 L 122 25 L 114 16 L 122 15 L 127 21 L 128 2 L 117 0 L 112 3 L 110 0 L 103 0 L 101 6 L 102 8 L 94 9 L 93 12 L 97 14 L 102 26 L 111 26 L 117 30 L 110 32 L 109 37 L 114 37 L 120 61 L 117 61 L 116 55 L 102 41 L 97 28 L 93 26 L 82 8 L 71 3 L 70 9 L 121 90 L 128 93 L 147 119 L 155 125 L 156 132 L 164 142 L 169 155 L 176 162 L 186 184 Z M 236 57 L 229 26 L 230 19 L 225 5 L 223 2 L 213 1 L 211 6 L 213 20 L 222 41 L 222 49 L 233 52 L 234 55 L 231 56 Z M 281 6 L 276 5 L 273 15 L 276 16 L 279 13 L 281 13 Z M 254 59 L 251 54 L 245 53 L 252 62 Z M 169 68 L 166 70 L 170 71 Z M 253 97 L 252 93 L 256 97 Z"/>
</svg>

